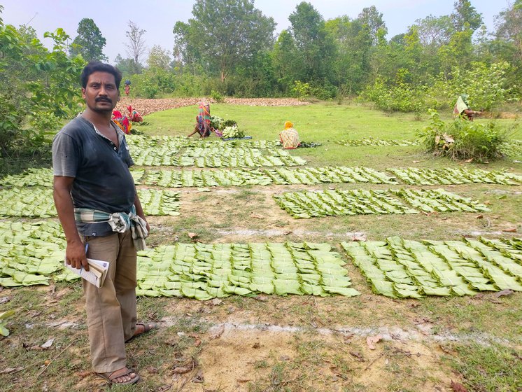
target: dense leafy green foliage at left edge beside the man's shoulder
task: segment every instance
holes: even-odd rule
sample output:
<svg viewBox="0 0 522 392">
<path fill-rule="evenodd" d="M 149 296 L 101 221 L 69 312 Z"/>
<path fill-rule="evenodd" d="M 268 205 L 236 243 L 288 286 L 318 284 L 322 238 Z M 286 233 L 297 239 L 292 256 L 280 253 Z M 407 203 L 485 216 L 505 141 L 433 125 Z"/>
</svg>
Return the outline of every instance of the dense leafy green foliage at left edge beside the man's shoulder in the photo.
<svg viewBox="0 0 522 392">
<path fill-rule="evenodd" d="M 0 161 L 48 152 L 48 137 L 78 111 L 85 61 L 66 56 L 69 36 L 63 29 L 44 37 L 52 39 L 52 51 L 31 28 L 19 31 L 0 22 Z"/>
</svg>

